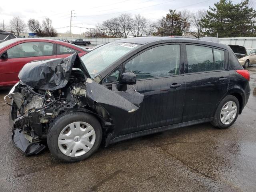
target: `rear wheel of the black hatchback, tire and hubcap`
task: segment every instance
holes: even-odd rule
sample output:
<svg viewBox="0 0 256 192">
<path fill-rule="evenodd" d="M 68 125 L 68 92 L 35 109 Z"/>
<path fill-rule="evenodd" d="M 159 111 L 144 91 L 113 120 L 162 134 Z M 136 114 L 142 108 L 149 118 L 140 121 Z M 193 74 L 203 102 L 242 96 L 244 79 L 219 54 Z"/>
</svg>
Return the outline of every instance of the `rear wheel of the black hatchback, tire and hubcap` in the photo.
<svg viewBox="0 0 256 192">
<path fill-rule="evenodd" d="M 220 129 L 228 128 L 236 121 L 238 112 L 238 99 L 233 95 L 228 95 L 218 105 L 212 125 Z"/>
</svg>

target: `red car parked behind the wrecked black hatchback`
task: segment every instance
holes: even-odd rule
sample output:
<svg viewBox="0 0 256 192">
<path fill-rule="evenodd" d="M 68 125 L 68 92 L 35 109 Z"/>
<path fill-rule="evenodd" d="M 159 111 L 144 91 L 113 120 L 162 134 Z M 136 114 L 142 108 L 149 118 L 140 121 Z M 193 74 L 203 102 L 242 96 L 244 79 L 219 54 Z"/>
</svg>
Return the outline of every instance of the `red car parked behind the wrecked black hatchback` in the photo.
<svg viewBox="0 0 256 192">
<path fill-rule="evenodd" d="M 18 73 L 28 62 L 52 58 L 65 58 L 77 52 L 85 55 L 89 50 L 63 41 L 40 38 L 15 38 L 0 43 L 0 87 L 16 84 Z"/>
</svg>

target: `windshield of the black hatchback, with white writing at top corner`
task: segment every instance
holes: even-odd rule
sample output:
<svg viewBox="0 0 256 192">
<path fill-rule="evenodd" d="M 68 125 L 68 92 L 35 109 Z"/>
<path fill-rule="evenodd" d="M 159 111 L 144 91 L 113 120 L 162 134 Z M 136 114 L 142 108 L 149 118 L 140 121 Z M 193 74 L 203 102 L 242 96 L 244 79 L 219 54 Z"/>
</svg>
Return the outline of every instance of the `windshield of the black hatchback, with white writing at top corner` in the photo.
<svg viewBox="0 0 256 192">
<path fill-rule="evenodd" d="M 110 42 L 88 52 L 86 55 L 82 56 L 81 59 L 90 75 L 94 78 L 102 70 L 110 66 L 125 54 L 135 48 L 138 48 L 138 46 L 140 45 L 123 42 Z"/>
</svg>

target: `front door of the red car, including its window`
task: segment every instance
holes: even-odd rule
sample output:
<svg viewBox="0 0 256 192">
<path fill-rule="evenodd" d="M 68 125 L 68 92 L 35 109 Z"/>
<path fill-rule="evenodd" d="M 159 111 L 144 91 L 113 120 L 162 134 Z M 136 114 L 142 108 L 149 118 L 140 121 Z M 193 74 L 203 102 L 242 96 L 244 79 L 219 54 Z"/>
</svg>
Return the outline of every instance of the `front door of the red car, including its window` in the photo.
<svg viewBox="0 0 256 192">
<path fill-rule="evenodd" d="M 18 73 L 28 62 L 56 58 L 55 44 L 50 42 L 22 42 L 4 50 L 7 59 L 0 59 L 0 86 L 18 82 Z"/>
</svg>

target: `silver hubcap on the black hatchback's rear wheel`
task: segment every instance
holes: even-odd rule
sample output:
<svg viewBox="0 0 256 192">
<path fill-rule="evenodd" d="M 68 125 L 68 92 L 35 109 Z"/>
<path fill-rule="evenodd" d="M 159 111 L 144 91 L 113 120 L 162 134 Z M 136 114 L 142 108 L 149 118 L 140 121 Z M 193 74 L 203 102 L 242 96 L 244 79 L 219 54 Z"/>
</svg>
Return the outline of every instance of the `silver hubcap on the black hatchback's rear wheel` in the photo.
<svg viewBox="0 0 256 192">
<path fill-rule="evenodd" d="M 233 122 L 234 118 L 236 117 L 236 113 L 236 103 L 233 101 L 229 101 L 222 107 L 222 110 L 220 112 L 220 121 L 224 125 L 228 125 Z"/>
</svg>

